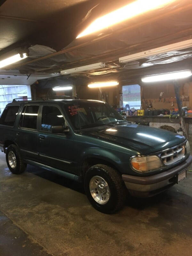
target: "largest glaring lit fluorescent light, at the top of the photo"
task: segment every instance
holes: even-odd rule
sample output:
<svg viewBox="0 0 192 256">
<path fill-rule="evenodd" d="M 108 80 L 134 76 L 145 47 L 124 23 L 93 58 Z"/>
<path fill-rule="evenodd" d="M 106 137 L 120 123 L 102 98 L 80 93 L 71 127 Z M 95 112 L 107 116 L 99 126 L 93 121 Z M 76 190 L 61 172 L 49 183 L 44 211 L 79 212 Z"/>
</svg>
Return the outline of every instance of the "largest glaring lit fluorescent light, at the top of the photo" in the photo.
<svg viewBox="0 0 192 256">
<path fill-rule="evenodd" d="M 115 25 L 116 23 L 122 22 L 124 20 L 131 19 L 137 15 L 144 12 L 155 10 L 157 8 L 163 7 L 166 4 L 175 2 L 175 0 L 137 0 L 131 4 L 127 4 L 122 8 L 119 8 L 113 12 L 99 17 L 94 20 L 82 33 L 80 33 L 76 38 L 86 36 L 88 34 L 94 33 L 103 28 L 108 28 Z"/>
</svg>

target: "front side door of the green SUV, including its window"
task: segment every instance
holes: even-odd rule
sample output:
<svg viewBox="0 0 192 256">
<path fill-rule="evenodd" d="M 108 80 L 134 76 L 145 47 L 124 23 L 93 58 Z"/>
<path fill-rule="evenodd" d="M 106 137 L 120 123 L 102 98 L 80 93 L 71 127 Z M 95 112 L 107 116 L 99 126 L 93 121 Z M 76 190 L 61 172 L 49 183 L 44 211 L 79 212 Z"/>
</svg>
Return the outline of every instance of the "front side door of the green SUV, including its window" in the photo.
<svg viewBox="0 0 192 256">
<path fill-rule="evenodd" d="M 67 125 L 62 109 L 55 105 L 43 105 L 38 135 L 40 162 L 56 169 L 75 173 L 73 131 L 52 133 L 52 126 Z"/>
</svg>

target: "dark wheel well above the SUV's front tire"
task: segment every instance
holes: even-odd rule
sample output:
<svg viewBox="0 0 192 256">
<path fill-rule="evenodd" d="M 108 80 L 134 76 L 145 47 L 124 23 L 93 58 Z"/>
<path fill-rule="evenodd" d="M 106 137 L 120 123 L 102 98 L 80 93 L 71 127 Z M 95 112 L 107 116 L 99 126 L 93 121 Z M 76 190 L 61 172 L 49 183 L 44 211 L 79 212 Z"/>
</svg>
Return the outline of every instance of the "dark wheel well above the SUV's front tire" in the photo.
<svg viewBox="0 0 192 256">
<path fill-rule="evenodd" d="M 116 166 L 106 160 L 103 160 L 103 159 L 100 159 L 100 158 L 97 158 L 97 157 L 89 157 L 89 158 L 86 158 L 82 164 L 82 170 L 81 170 L 81 175 L 82 175 L 82 179 L 84 179 L 84 175 L 85 175 L 85 172 L 93 165 L 96 165 L 96 164 L 105 164 L 105 165 L 108 165 L 112 168 L 114 168 L 116 171 L 119 172 L 119 170 L 116 168 Z"/>
</svg>

